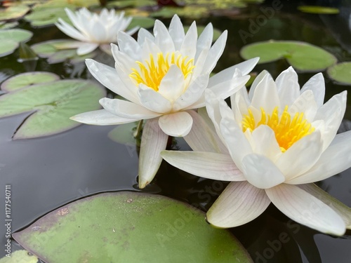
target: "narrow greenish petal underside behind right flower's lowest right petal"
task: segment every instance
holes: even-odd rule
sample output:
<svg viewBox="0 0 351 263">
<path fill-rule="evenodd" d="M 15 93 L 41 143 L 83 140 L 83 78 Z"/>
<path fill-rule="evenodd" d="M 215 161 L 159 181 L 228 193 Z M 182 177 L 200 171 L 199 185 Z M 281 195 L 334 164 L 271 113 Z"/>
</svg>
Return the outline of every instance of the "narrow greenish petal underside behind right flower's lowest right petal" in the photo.
<svg viewBox="0 0 351 263">
<path fill-rule="evenodd" d="M 332 208 L 336 213 L 338 213 L 338 215 L 340 215 L 341 218 L 343 218 L 346 228 L 351 229 L 351 208 L 317 187 L 316 184 L 300 184 L 298 187 L 307 191 L 307 193 L 312 194 L 312 196 L 318 198 L 326 205 L 329 205 L 330 208 Z"/>
</svg>

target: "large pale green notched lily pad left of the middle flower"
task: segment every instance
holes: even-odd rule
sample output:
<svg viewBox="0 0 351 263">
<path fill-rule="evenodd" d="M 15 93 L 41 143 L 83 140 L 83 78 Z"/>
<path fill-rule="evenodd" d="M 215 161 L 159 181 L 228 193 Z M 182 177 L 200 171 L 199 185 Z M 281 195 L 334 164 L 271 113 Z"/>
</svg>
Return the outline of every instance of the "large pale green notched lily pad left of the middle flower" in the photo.
<svg viewBox="0 0 351 263">
<path fill-rule="evenodd" d="M 100 109 L 98 100 L 105 95 L 98 83 L 81 79 L 27 86 L 0 96 L 0 118 L 32 112 L 13 139 L 53 135 L 79 126 L 69 117 Z"/>
</svg>

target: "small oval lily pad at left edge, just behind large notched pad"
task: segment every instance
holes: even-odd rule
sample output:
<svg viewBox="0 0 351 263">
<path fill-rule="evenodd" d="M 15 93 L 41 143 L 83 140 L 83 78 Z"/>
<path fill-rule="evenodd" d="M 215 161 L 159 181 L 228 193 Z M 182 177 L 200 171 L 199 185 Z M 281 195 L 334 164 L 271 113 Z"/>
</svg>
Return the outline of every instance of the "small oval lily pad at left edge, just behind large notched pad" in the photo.
<svg viewBox="0 0 351 263">
<path fill-rule="evenodd" d="M 1 84 L 1 90 L 10 92 L 20 90 L 21 88 L 27 88 L 35 84 L 57 81 L 59 79 L 60 76 L 51 72 L 26 72 L 6 79 L 6 81 Z"/>
</svg>

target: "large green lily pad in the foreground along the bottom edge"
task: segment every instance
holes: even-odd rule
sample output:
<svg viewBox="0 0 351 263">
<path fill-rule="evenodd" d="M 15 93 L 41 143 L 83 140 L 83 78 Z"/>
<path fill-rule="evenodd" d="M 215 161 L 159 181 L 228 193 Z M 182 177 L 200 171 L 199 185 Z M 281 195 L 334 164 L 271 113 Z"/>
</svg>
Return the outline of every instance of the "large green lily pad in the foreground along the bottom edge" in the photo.
<svg viewBox="0 0 351 263">
<path fill-rule="evenodd" d="M 121 191 L 69 203 L 13 234 L 45 262 L 252 262 L 205 214 L 165 196 Z"/>
</svg>

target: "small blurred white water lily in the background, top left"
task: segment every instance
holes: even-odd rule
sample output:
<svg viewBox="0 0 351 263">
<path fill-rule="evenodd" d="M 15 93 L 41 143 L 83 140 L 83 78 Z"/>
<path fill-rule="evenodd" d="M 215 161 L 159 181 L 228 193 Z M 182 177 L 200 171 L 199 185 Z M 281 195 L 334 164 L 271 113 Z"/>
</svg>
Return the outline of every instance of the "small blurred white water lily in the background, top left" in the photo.
<svg viewBox="0 0 351 263">
<path fill-rule="evenodd" d="M 69 46 L 70 48 L 78 48 L 78 55 L 90 53 L 100 45 L 116 43 L 118 33 L 125 31 L 133 19 L 131 17 L 124 18 L 124 12 L 115 13 L 114 9 L 108 11 L 106 8 L 102 8 L 99 15 L 91 13 L 86 8 L 81 8 L 76 12 L 65 8 L 65 11 L 74 27 L 61 18 L 55 25 L 67 36 L 79 40 L 79 42 Z M 133 27 L 127 34 L 134 34 L 138 28 Z"/>
</svg>

